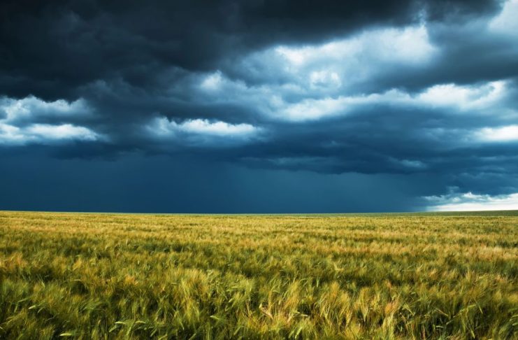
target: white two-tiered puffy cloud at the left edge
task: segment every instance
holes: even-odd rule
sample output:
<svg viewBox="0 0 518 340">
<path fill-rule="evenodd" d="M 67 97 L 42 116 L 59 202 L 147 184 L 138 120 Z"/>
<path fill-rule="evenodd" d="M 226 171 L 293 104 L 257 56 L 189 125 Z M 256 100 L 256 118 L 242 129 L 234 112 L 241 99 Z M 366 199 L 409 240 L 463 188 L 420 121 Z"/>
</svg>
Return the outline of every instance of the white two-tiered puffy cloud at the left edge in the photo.
<svg viewBox="0 0 518 340">
<path fill-rule="evenodd" d="M 0 99 L 0 144 L 57 143 L 59 141 L 94 141 L 101 136 L 87 127 L 68 122 L 43 124 L 41 118 L 67 120 L 90 113 L 85 101 L 69 103 L 63 99 L 43 101 L 33 96 L 24 99 Z"/>
</svg>

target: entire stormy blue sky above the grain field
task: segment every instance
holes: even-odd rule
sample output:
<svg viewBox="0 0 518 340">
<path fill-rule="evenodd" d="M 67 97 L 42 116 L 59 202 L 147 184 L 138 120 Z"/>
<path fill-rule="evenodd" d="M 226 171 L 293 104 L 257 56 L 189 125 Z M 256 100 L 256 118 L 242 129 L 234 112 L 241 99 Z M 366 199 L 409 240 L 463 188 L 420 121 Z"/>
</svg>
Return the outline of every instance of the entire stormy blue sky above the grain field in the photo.
<svg viewBox="0 0 518 340">
<path fill-rule="evenodd" d="M 518 209 L 518 0 L 1 1 L 0 210 Z"/>
</svg>

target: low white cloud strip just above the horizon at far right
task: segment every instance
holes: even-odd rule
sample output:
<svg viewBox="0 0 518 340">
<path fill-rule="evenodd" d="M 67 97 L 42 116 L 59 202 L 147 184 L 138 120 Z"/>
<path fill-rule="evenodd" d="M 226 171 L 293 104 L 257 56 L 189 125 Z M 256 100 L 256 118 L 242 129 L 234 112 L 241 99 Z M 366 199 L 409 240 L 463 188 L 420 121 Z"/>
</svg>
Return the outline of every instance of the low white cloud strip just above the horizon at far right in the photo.
<svg viewBox="0 0 518 340">
<path fill-rule="evenodd" d="M 429 211 L 518 210 L 518 193 L 491 196 L 466 192 L 424 198 L 429 201 Z"/>
</svg>

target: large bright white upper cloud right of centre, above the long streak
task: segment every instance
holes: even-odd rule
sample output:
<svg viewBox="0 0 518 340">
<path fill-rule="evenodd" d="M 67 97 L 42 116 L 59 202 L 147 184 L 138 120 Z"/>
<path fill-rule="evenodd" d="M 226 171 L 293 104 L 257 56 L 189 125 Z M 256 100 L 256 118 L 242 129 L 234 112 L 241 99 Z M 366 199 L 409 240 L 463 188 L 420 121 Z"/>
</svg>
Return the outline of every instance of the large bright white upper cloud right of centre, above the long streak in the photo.
<svg viewBox="0 0 518 340">
<path fill-rule="evenodd" d="M 436 52 L 425 26 L 378 28 L 322 45 L 279 45 L 260 57 L 250 56 L 245 64 L 268 61 L 260 69 L 273 78 L 288 80 L 304 90 L 315 90 L 315 83 L 324 80 L 320 85 L 326 86 L 320 90 L 338 94 L 340 88 L 354 91 L 356 85 L 394 67 L 424 66 Z"/>
</svg>

